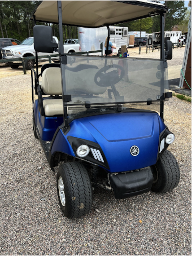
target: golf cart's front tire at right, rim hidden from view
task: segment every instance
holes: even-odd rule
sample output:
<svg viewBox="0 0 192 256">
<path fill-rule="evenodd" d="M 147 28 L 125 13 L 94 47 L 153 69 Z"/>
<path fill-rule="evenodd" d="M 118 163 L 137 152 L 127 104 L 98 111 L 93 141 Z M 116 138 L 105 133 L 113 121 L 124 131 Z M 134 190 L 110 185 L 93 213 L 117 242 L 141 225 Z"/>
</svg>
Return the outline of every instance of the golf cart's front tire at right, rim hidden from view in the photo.
<svg viewBox="0 0 192 256">
<path fill-rule="evenodd" d="M 165 193 L 177 187 L 180 180 L 180 169 L 175 157 L 165 150 L 157 163 L 151 166 L 154 182 L 151 190 Z"/>
</svg>

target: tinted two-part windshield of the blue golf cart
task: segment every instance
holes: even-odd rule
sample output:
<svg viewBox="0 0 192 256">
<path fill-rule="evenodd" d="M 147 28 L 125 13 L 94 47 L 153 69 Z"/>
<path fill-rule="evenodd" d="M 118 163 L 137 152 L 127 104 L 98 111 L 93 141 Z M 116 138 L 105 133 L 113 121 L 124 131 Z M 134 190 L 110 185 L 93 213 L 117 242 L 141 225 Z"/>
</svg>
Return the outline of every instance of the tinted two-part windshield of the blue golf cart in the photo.
<svg viewBox="0 0 192 256">
<path fill-rule="evenodd" d="M 159 111 L 161 96 L 169 89 L 163 60 L 85 56 L 75 62 L 68 56 L 64 87 L 72 99 L 67 103 L 71 117 L 119 104 Z"/>
</svg>

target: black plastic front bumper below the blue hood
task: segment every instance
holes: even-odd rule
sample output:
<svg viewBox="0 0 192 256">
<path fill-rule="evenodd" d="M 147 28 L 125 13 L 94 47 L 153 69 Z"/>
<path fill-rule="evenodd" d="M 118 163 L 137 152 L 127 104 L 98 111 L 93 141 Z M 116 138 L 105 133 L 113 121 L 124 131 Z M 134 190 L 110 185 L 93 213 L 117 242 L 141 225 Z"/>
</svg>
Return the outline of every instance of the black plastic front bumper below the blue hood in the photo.
<svg viewBox="0 0 192 256">
<path fill-rule="evenodd" d="M 137 196 L 151 190 L 153 174 L 151 168 L 109 175 L 116 199 Z"/>
</svg>

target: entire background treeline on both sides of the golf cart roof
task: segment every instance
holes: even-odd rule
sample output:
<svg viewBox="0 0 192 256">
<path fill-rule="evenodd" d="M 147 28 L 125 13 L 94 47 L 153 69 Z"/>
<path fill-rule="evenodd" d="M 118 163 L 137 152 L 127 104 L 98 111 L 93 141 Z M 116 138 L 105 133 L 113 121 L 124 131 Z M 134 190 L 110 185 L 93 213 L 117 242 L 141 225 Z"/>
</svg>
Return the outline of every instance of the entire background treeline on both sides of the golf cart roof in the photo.
<svg viewBox="0 0 192 256">
<path fill-rule="evenodd" d="M 165 30 L 171 30 L 174 25 L 188 24 L 189 14 L 187 7 L 184 7 L 184 1 L 155 1 L 164 2 L 169 8 L 165 16 Z M 33 36 L 34 22 L 29 17 L 39 1 L 0 1 L 0 37 L 16 38 L 20 41 L 26 37 Z M 187 13 L 187 15 L 186 15 Z M 59 38 L 59 29 L 57 24 L 39 23 L 37 25 L 48 25 L 53 28 L 53 36 Z M 128 27 L 129 31 L 146 31 L 152 33 L 160 31 L 160 17 L 149 17 L 142 20 L 136 20 L 119 24 L 119 26 Z M 77 27 L 64 26 L 63 38 L 78 38 Z"/>
</svg>

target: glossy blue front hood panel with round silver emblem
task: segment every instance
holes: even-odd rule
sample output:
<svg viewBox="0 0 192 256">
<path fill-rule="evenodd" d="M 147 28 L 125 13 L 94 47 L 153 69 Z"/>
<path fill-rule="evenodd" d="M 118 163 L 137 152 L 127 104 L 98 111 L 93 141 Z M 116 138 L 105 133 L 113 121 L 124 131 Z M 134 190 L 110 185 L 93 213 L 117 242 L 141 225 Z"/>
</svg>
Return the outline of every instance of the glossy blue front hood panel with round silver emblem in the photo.
<svg viewBox="0 0 192 256">
<path fill-rule="evenodd" d="M 100 145 L 109 172 L 126 172 L 156 163 L 159 135 L 166 126 L 156 113 L 136 112 L 79 118 L 70 127 L 70 136 Z M 139 149 L 136 156 L 133 146 Z"/>
</svg>

